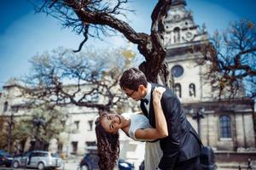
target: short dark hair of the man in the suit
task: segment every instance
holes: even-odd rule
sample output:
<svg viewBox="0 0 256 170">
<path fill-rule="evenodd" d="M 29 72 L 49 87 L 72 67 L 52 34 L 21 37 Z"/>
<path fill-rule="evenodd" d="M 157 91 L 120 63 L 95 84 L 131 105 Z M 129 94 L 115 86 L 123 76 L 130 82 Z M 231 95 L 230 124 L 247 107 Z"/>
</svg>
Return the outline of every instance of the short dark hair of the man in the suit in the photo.
<svg viewBox="0 0 256 170">
<path fill-rule="evenodd" d="M 140 71 L 137 68 L 131 68 L 124 71 L 119 80 L 119 86 L 121 88 L 129 88 L 131 90 L 137 90 L 139 85 L 143 85 L 147 88 L 147 83 L 147 78 L 143 71 Z"/>
</svg>

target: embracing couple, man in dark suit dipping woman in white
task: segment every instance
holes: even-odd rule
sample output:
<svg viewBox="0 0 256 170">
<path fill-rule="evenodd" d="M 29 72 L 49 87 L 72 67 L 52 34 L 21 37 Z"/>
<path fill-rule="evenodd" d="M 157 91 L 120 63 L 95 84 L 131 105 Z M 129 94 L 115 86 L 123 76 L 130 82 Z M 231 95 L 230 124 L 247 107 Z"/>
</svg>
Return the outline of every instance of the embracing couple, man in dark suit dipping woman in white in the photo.
<svg viewBox="0 0 256 170">
<path fill-rule="evenodd" d="M 152 140 L 145 150 L 145 170 L 197 170 L 201 140 L 186 119 L 172 90 L 149 83 L 142 71 L 125 71 L 119 85 L 129 97 L 141 100 L 143 115 L 130 119 L 117 114 L 102 114 L 96 122 L 96 138 L 101 169 L 113 169 L 119 155 L 121 128 L 131 139 Z M 148 102 L 143 102 L 148 100 Z M 149 123 L 148 123 L 149 122 Z M 154 161 L 153 161 L 154 160 Z"/>
</svg>

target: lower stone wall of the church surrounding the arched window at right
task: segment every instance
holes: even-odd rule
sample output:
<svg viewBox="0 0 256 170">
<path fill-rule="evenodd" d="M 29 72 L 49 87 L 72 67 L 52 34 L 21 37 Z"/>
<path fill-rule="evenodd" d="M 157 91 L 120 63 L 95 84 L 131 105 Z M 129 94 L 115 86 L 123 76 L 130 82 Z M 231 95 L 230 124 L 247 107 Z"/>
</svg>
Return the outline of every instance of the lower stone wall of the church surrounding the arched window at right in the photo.
<svg viewBox="0 0 256 170">
<path fill-rule="evenodd" d="M 251 100 L 252 102 L 252 100 Z M 234 102 L 207 102 L 183 104 L 184 111 L 189 122 L 197 131 L 197 122 L 192 118 L 189 109 L 195 108 L 198 111 L 198 106 L 204 107 L 205 112 L 200 120 L 201 140 L 204 145 L 210 145 L 216 151 L 256 151 L 255 149 L 255 131 L 253 125 L 253 104 L 247 101 Z M 244 112 L 238 111 L 237 108 L 245 107 Z M 189 108 L 189 109 L 188 109 Z M 237 111 L 237 112 L 236 112 Z M 221 138 L 220 136 L 220 116 L 230 116 L 230 138 Z"/>
</svg>

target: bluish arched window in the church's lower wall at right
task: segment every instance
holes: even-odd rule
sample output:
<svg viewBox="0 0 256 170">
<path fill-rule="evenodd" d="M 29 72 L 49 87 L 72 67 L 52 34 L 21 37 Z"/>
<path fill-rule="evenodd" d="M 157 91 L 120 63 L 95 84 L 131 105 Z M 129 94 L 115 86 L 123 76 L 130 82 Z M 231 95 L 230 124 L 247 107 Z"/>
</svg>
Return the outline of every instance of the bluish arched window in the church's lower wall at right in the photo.
<svg viewBox="0 0 256 170">
<path fill-rule="evenodd" d="M 231 119 L 230 116 L 219 117 L 220 138 L 231 138 Z"/>
</svg>

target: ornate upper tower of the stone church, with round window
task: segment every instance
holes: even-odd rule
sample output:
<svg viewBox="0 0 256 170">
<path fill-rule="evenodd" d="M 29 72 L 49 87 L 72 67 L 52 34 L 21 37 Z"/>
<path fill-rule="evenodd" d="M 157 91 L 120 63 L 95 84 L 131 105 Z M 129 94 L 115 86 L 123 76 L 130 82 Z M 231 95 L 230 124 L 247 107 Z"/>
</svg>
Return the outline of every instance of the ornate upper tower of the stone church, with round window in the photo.
<svg viewBox="0 0 256 170">
<path fill-rule="evenodd" d="M 174 91 L 183 103 L 212 99 L 211 86 L 204 73 L 207 65 L 199 65 L 201 45 L 207 43 L 205 26 L 195 25 L 192 12 L 184 0 L 174 0 L 165 20 L 164 44 L 166 62 L 174 77 Z"/>
</svg>

